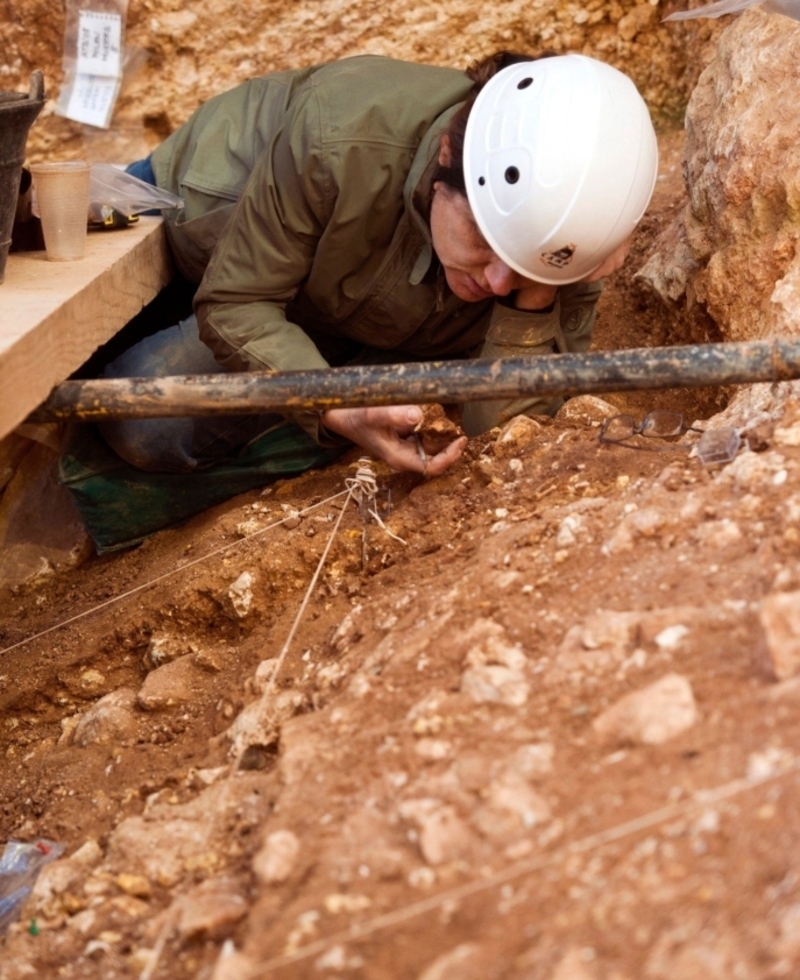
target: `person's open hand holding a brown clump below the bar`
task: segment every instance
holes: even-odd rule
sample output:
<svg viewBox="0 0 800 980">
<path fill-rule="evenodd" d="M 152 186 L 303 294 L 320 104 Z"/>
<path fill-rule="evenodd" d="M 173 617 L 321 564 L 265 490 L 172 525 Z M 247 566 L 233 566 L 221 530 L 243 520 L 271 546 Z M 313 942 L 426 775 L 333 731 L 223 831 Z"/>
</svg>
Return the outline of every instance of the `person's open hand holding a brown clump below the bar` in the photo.
<svg viewBox="0 0 800 980">
<path fill-rule="evenodd" d="M 414 427 L 421 418 L 422 410 L 417 405 L 331 408 L 323 414 L 322 424 L 394 470 L 439 476 L 459 458 L 467 439 L 455 439 L 436 456 L 424 460 L 414 439 Z"/>
</svg>

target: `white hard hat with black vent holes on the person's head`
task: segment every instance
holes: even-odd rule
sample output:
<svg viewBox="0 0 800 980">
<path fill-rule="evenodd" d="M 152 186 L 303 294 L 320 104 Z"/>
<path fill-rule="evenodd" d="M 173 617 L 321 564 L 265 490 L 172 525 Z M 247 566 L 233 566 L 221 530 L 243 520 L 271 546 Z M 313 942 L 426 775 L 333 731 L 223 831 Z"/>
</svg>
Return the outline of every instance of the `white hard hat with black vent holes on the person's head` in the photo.
<svg viewBox="0 0 800 980">
<path fill-rule="evenodd" d="M 633 82 L 579 54 L 511 65 L 478 93 L 464 177 L 492 250 L 537 282 L 577 282 L 631 234 L 658 146 Z"/>
</svg>

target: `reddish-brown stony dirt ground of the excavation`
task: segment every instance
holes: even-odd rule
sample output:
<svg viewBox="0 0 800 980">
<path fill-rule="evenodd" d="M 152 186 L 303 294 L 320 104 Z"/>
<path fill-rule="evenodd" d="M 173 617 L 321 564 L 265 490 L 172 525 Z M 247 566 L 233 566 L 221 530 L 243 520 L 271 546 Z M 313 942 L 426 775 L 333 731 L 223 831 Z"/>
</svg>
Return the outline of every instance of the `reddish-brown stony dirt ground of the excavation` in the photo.
<svg viewBox="0 0 800 980">
<path fill-rule="evenodd" d="M 597 346 L 714 339 L 632 277 L 681 139 Z M 797 976 L 800 687 L 765 610 L 800 588 L 800 410 L 716 469 L 692 433 L 602 444 L 609 411 L 436 480 L 373 464 L 361 508 L 354 452 L 5 594 L 0 840 L 67 856 L 0 977 Z"/>
</svg>

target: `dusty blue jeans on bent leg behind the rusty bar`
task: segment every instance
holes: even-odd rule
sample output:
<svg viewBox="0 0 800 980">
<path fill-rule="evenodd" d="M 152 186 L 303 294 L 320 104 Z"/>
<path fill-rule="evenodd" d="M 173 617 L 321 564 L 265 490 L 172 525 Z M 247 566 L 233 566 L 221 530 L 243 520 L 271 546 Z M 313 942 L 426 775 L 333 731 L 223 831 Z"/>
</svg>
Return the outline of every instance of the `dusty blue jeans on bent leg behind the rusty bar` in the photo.
<svg viewBox="0 0 800 980">
<path fill-rule="evenodd" d="M 106 366 L 105 378 L 162 378 L 172 374 L 221 374 L 200 340 L 191 316 L 145 337 Z M 124 460 L 151 473 L 191 473 L 230 459 L 280 415 L 123 419 L 99 425 L 106 442 Z"/>
</svg>

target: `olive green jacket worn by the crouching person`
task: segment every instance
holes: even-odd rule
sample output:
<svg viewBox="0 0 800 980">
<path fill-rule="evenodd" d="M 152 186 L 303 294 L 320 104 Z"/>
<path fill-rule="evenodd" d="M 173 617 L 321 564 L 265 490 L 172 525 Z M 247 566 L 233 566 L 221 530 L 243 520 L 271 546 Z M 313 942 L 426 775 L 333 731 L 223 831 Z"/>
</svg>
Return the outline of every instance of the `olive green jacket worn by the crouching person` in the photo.
<svg viewBox="0 0 800 980">
<path fill-rule="evenodd" d="M 550 313 L 447 288 L 428 210 L 439 138 L 471 87 L 374 56 L 278 72 L 212 99 L 155 151 L 159 186 L 186 201 L 168 234 L 184 274 L 205 269 L 195 312 L 224 368 L 588 347 L 598 285 L 562 288 Z M 548 408 L 484 403 L 468 428 Z"/>
</svg>

